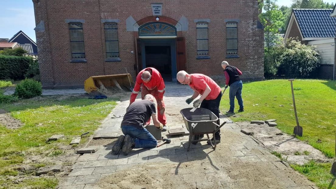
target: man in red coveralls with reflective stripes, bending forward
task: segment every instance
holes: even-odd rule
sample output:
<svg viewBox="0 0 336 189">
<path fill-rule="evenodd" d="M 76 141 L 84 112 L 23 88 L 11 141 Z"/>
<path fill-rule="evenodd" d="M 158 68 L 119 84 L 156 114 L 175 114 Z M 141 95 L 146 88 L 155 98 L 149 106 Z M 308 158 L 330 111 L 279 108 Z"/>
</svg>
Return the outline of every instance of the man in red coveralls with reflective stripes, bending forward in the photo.
<svg viewBox="0 0 336 189">
<path fill-rule="evenodd" d="M 151 94 L 155 97 L 158 103 L 158 120 L 163 124 L 162 131 L 166 131 L 167 118 L 165 115 L 165 103 L 163 102 L 163 95 L 165 93 L 165 83 L 160 72 L 155 68 L 145 68 L 139 72 L 136 76 L 135 86 L 132 91 L 129 105 L 131 105 L 138 95 L 141 87 L 141 99 L 147 94 Z M 150 124 L 149 119 L 146 124 Z"/>
</svg>

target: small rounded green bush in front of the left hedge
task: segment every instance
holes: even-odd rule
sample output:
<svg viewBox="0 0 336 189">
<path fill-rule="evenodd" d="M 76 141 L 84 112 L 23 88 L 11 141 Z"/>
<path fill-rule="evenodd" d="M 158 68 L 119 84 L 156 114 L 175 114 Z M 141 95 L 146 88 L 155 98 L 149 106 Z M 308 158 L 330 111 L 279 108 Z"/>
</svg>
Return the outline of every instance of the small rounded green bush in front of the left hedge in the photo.
<svg viewBox="0 0 336 189">
<path fill-rule="evenodd" d="M 14 95 L 23 99 L 40 96 L 42 95 L 42 85 L 33 79 L 25 79 L 17 84 Z"/>
</svg>

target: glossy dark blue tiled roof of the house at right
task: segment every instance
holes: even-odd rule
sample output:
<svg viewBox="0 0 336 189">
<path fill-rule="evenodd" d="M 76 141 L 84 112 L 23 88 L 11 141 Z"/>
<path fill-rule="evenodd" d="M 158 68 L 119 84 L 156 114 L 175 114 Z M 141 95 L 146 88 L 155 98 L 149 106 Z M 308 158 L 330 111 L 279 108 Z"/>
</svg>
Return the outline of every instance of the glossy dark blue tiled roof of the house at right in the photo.
<svg viewBox="0 0 336 189">
<path fill-rule="evenodd" d="M 293 9 L 302 37 L 335 37 L 336 17 L 331 17 L 333 9 Z"/>
</svg>

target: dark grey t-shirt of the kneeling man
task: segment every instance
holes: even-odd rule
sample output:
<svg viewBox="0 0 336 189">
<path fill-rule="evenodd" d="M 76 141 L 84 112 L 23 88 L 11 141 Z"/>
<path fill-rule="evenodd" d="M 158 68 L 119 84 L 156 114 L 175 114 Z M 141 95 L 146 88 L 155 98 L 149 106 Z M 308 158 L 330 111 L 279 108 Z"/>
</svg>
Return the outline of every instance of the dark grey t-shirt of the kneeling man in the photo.
<svg viewBox="0 0 336 189">
<path fill-rule="evenodd" d="M 142 128 L 152 114 L 156 114 L 155 104 L 152 101 L 135 101 L 128 107 L 124 119 L 121 122 L 121 126 L 132 125 Z"/>
</svg>

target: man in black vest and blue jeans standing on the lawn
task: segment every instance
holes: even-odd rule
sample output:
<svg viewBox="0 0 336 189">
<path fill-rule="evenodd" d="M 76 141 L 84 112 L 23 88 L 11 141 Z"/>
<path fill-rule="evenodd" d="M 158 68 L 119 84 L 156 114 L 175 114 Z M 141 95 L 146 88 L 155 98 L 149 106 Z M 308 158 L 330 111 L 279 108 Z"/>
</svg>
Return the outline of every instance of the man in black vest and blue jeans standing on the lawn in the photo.
<svg viewBox="0 0 336 189">
<path fill-rule="evenodd" d="M 226 113 L 234 113 L 235 97 L 237 98 L 239 104 L 238 112 L 244 112 L 244 105 L 242 99 L 243 82 L 242 79 L 240 78 L 242 72 L 238 68 L 230 66 L 229 63 L 227 63 L 226 61 L 222 62 L 222 68 L 224 69 L 225 74 L 225 83 L 226 83 L 225 88 L 227 86 L 230 86 L 229 90 L 230 109 Z"/>
</svg>

